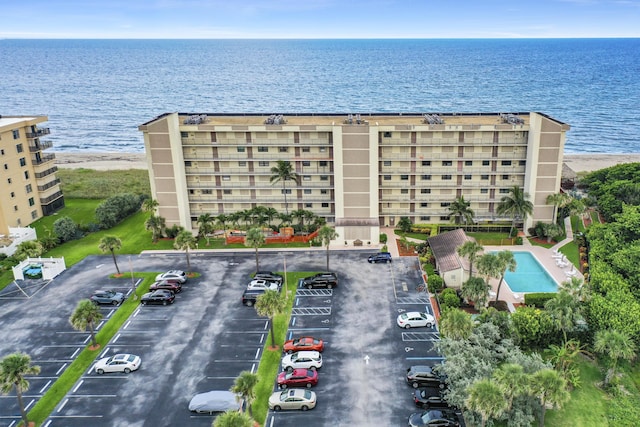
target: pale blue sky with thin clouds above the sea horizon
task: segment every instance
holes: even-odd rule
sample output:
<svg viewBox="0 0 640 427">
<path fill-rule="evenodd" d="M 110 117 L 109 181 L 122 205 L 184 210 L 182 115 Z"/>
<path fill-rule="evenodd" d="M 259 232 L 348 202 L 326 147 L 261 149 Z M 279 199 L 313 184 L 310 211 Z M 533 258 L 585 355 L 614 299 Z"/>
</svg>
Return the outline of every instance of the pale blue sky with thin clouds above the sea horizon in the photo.
<svg viewBox="0 0 640 427">
<path fill-rule="evenodd" d="M 0 0 L 0 38 L 640 37 L 640 0 Z"/>
</svg>

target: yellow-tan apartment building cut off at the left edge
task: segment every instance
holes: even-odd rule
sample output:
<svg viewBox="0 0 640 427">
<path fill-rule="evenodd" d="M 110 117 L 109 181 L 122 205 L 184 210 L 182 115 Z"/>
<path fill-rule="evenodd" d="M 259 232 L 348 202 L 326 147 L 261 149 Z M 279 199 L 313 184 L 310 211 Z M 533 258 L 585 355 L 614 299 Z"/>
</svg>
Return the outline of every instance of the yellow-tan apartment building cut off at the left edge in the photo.
<svg viewBox="0 0 640 427">
<path fill-rule="evenodd" d="M 0 235 L 64 206 L 46 116 L 0 116 Z"/>
</svg>

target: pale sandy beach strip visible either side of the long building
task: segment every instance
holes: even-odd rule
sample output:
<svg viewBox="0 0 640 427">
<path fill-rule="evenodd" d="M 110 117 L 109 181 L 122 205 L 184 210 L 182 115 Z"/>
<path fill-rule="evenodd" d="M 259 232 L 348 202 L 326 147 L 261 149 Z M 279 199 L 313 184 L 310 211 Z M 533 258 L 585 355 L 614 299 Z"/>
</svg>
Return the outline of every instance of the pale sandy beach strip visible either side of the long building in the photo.
<svg viewBox="0 0 640 427">
<path fill-rule="evenodd" d="M 144 153 L 55 153 L 56 165 L 66 169 L 147 169 Z M 620 163 L 640 162 L 640 154 L 565 154 L 564 164 L 573 172 L 591 172 Z"/>
</svg>

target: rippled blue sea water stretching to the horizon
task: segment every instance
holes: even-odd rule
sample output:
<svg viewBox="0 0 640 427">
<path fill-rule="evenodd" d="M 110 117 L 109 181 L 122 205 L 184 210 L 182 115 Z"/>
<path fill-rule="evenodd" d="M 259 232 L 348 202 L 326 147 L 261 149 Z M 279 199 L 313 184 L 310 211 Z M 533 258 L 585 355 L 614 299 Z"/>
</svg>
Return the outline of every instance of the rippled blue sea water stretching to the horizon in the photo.
<svg viewBox="0 0 640 427">
<path fill-rule="evenodd" d="M 640 152 L 640 39 L 0 40 L 0 115 L 142 152 L 165 112 L 540 111 L 567 153 Z"/>
</svg>

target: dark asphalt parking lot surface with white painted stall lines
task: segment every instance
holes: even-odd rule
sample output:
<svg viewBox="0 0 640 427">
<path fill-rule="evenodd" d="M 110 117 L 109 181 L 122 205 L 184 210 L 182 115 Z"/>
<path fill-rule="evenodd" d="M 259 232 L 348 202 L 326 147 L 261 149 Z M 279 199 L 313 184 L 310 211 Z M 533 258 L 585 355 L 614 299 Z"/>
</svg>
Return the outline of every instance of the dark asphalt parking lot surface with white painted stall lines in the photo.
<svg viewBox="0 0 640 427">
<path fill-rule="evenodd" d="M 421 281 L 417 259 L 368 264 L 368 253 L 332 252 L 338 287 L 298 290 L 288 335 L 313 335 L 327 343 L 315 387 L 318 405 L 305 413 L 270 413 L 267 425 L 404 425 L 416 412 L 406 369 L 439 360 L 435 329 L 406 331 L 395 323 L 402 311 L 430 310 L 426 295 L 415 290 Z M 288 271 L 325 269 L 324 251 L 261 251 L 260 268 L 283 271 L 285 259 Z M 88 333 L 74 331 L 68 317 L 79 299 L 113 287 L 114 279 L 106 279 L 115 272 L 109 261 L 89 257 L 30 299 L 0 299 L 3 327 L 17 325 L 11 339 L 0 343 L 2 354 L 24 351 L 42 367 L 29 378 L 25 404 L 33 405 L 86 345 Z M 184 285 L 175 304 L 140 307 L 101 352 L 137 354 L 141 368 L 129 375 L 90 369 L 45 425 L 211 425 L 213 416 L 188 411 L 189 400 L 229 389 L 243 370 L 256 371 L 269 329 L 255 309 L 240 303 L 255 270 L 252 253 L 198 253 L 191 261 L 201 276 Z M 186 270 L 184 254 L 142 255 L 132 264 L 136 271 Z M 113 312 L 103 310 L 105 317 Z M 0 400 L 0 425 L 19 419 L 15 400 Z"/>
</svg>

